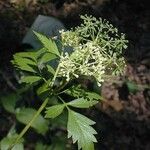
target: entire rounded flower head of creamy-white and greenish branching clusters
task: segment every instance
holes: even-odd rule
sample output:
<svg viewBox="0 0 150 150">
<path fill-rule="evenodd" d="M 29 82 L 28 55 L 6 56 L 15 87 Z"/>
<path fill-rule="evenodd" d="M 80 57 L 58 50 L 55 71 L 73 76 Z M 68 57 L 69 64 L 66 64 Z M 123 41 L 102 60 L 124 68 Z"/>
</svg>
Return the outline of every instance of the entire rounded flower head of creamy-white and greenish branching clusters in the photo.
<svg viewBox="0 0 150 150">
<path fill-rule="evenodd" d="M 60 31 L 63 49 L 72 47 L 60 59 L 59 75 L 69 81 L 79 76 L 94 77 L 98 86 L 108 75 L 122 74 L 125 60 L 123 49 L 127 40 L 123 33 L 106 20 L 81 16 L 83 24 L 70 31 Z"/>
</svg>

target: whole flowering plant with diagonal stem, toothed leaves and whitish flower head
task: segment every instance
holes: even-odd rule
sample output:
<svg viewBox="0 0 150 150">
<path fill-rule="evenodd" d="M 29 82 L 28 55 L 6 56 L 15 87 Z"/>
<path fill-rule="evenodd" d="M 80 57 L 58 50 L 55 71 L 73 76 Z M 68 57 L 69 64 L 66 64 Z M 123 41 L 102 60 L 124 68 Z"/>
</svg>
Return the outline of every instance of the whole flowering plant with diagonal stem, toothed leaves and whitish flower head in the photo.
<svg viewBox="0 0 150 150">
<path fill-rule="evenodd" d="M 41 98 L 43 103 L 32 119 L 24 122 L 26 127 L 10 147 L 29 127 L 34 128 L 34 121 L 46 108 L 45 118 L 50 119 L 67 110 L 68 138 L 77 142 L 78 149 L 94 150 L 97 132 L 92 125 L 95 122 L 74 108 L 90 108 L 101 100 L 101 96 L 75 81 L 92 78 L 101 86 L 108 77 L 122 74 L 125 67 L 123 50 L 128 41 L 106 20 L 87 15 L 81 19 L 80 26 L 69 31 L 61 30 L 59 38 L 48 38 L 34 32 L 43 47 L 14 55 L 12 63 L 21 72 L 20 82 L 38 87 L 37 94 L 46 96 Z"/>
</svg>

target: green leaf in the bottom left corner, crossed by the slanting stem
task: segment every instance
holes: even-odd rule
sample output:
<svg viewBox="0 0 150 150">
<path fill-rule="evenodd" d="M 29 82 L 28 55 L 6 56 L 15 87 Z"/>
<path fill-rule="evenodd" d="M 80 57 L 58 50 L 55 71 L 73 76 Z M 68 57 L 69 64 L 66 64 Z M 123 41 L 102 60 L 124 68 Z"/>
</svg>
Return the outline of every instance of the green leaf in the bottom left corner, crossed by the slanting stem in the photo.
<svg viewBox="0 0 150 150">
<path fill-rule="evenodd" d="M 5 138 L 3 138 L 0 142 L 0 149 L 1 150 L 8 150 L 9 146 L 11 146 L 16 138 L 17 138 L 17 134 L 14 134 L 14 135 L 10 135 L 10 136 L 7 136 Z M 12 150 L 24 150 L 23 148 L 23 139 L 21 139 L 13 148 Z"/>
</svg>

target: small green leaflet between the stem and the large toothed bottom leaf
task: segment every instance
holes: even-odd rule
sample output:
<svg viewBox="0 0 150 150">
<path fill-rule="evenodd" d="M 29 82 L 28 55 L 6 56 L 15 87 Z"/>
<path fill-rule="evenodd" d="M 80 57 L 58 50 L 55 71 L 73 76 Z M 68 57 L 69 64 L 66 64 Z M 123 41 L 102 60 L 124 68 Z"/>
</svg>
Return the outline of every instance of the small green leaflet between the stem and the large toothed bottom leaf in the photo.
<svg viewBox="0 0 150 150">
<path fill-rule="evenodd" d="M 46 118 L 55 118 L 57 116 L 59 116 L 63 110 L 64 110 L 65 105 L 64 104 L 60 104 L 60 105 L 54 105 L 51 107 L 46 108 Z"/>
</svg>

